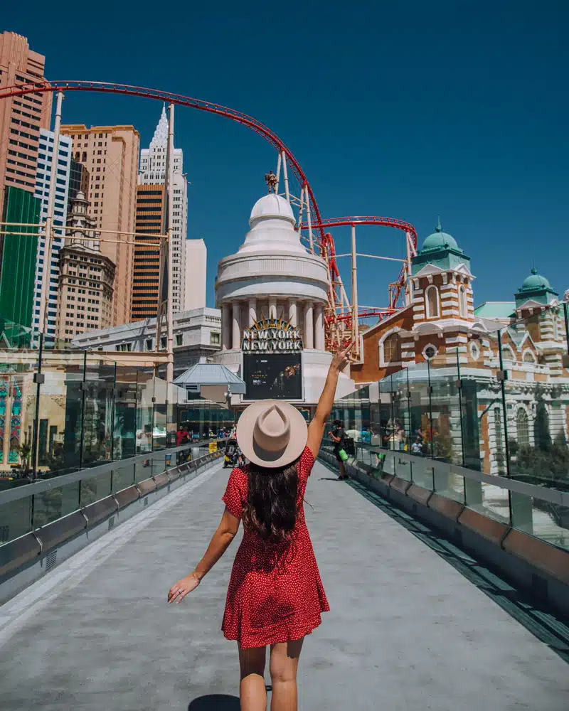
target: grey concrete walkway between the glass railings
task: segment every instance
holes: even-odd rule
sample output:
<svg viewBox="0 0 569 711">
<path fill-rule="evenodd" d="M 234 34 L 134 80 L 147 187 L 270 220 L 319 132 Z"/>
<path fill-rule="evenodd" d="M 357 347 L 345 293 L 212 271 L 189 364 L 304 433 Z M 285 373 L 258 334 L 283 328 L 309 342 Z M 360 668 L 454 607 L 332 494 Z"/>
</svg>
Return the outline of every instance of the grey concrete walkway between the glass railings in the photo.
<svg viewBox="0 0 569 711">
<path fill-rule="evenodd" d="M 219 628 L 236 549 L 179 606 L 228 470 L 206 472 L 0 608 L 0 709 L 237 711 Z M 560 711 L 568 666 L 408 530 L 317 464 L 309 530 L 331 612 L 304 645 L 304 711 Z"/>
</svg>

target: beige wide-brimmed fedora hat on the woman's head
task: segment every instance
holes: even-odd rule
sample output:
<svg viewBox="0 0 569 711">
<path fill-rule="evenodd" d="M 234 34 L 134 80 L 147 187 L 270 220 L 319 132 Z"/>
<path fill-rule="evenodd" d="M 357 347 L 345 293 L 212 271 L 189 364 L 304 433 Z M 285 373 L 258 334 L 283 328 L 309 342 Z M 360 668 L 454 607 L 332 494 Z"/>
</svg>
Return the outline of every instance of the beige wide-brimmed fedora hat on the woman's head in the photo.
<svg viewBox="0 0 569 711">
<path fill-rule="evenodd" d="M 243 410 L 237 441 L 253 464 L 275 469 L 302 454 L 307 444 L 306 420 L 296 407 L 279 400 L 259 400 Z"/>
</svg>

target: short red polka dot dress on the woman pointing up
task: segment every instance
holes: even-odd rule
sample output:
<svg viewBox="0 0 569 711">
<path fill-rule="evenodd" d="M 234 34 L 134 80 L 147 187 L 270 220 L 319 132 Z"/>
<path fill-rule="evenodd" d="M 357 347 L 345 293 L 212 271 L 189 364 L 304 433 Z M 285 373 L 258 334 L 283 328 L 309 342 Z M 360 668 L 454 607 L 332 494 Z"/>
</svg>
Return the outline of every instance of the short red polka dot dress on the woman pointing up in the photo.
<svg viewBox="0 0 569 711">
<path fill-rule="evenodd" d="M 304 520 L 304 491 L 314 456 L 304 448 L 298 464 L 299 513 L 292 539 L 264 543 L 252 530 L 243 531 L 229 582 L 221 629 L 243 648 L 300 639 L 321 623 L 329 611 L 312 542 Z M 248 477 L 233 469 L 223 496 L 230 513 L 242 517 Z"/>
</svg>

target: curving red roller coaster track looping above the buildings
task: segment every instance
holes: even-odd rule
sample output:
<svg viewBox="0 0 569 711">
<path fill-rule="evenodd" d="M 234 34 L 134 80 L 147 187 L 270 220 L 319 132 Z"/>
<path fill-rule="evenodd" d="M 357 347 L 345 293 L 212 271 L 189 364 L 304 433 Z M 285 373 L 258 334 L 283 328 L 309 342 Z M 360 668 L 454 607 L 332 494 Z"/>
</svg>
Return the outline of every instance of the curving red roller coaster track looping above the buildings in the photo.
<svg viewBox="0 0 569 711">
<path fill-rule="evenodd" d="M 117 84 L 115 82 L 87 82 L 78 80 L 67 80 L 67 81 L 45 81 L 45 82 L 33 82 L 29 84 L 21 84 L 11 87 L 0 88 L 0 99 L 7 99 L 16 96 L 22 96 L 25 94 L 42 93 L 42 92 L 58 92 L 58 91 L 90 91 L 90 92 L 102 92 L 107 94 L 121 94 L 125 96 L 137 96 L 147 99 L 154 99 L 162 102 L 172 103 L 179 106 L 187 106 L 192 109 L 198 109 L 198 111 L 205 111 L 210 114 L 216 114 L 218 116 L 235 121 L 238 124 L 248 127 L 255 133 L 262 136 L 265 141 L 267 141 L 271 146 L 273 146 L 277 151 L 284 152 L 287 157 L 287 163 L 292 169 L 292 173 L 299 185 L 301 187 L 306 186 L 309 200 L 310 208 L 313 216 L 314 224 L 312 229 L 319 232 L 320 235 L 320 248 L 323 256 L 329 258 L 330 276 L 332 283 L 339 283 L 340 273 L 338 266 L 336 264 L 336 250 L 334 247 L 334 240 L 329 234 L 325 232 L 324 228 L 339 227 L 341 225 L 383 225 L 385 227 L 392 227 L 398 230 L 403 230 L 409 232 L 413 240 L 413 245 L 417 245 L 417 233 L 413 225 L 403 222 L 403 220 L 396 220 L 393 218 L 381 218 L 373 216 L 364 217 L 347 217 L 347 218 L 336 218 L 331 220 L 322 220 L 320 215 L 320 210 L 317 205 L 316 198 L 314 197 L 314 191 L 312 186 L 308 182 L 307 176 L 302 170 L 299 162 L 292 154 L 292 151 L 287 147 L 284 141 L 282 141 L 277 134 L 271 131 L 270 128 L 262 124 L 257 119 L 243 112 L 236 111 L 235 109 L 230 109 L 219 104 L 214 104 L 212 102 L 203 101 L 201 99 L 194 99 L 192 97 L 183 96 L 180 94 L 173 94 L 171 92 L 161 91 L 158 89 L 149 89 L 147 87 L 137 87 L 127 84 Z M 303 225 L 303 228 L 307 228 L 307 225 Z M 393 312 L 392 306 L 398 299 L 398 296 L 403 289 L 405 283 L 404 270 L 400 274 L 397 283 L 396 296 L 392 304 L 390 304 L 390 309 L 373 309 L 372 311 L 366 311 L 359 314 L 360 316 L 378 316 L 380 319 L 388 313 Z M 336 304 L 330 304 L 332 313 L 334 314 L 336 309 Z M 331 320 L 335 316 L 330 317 Z M 348 316 L 340 316 L 340 319 L 345 320 L 349 318 Z M 328 321 L 329 319 L 326 319 Z"/>
</svg>

